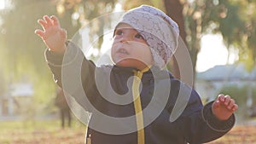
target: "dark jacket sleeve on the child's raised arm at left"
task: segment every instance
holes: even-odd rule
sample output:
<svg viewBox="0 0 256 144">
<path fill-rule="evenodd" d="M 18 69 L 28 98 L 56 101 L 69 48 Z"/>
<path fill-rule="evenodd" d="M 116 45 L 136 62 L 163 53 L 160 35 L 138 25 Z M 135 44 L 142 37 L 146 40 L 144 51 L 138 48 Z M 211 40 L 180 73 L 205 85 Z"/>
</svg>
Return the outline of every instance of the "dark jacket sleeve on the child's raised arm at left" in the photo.
<svg viewBox="0 0 256 144">
<path fill-rule="evenodd" d="M 67 42 L 65 53 L 45 50 L 45 59 L 53 73 L 55 83 L 71 95 L 87 111 L 89 102 L 95 99 L 95 69 L 91 60 L 87 60 L 81 49 L 74 43 Z M 90 90 L 89 90 L 90 89 Z"/>
</svg>

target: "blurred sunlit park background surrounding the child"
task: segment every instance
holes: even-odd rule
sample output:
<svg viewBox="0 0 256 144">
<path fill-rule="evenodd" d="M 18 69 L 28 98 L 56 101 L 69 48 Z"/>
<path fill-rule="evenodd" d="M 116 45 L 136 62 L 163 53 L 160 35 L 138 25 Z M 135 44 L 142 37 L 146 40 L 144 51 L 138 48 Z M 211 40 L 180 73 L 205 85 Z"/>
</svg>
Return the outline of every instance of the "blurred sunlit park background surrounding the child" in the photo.
<svg viewBox="0 0 256 144">
<path fill-rule="evenodd" d="M 0 130 L 3 131 L 3 134 L 0 132 L 0 143 L 60 143 L 58 137 L 64 139 L 67 135 L 67 143 L 84 141 L 84 124 L 74 116 L 72 128 L 68 128 L 69 131 L 62 129 L 61 135 L 56 134 L 61 131 L 59 109 L 55 106 L 58 88 L 44 60 L 44 43 L 34 34 L 41 28 L 38 19 L 44 14 L 55 14 L 67 30 L 68 38 L 95 20 L 89 26 L 88 39 L 94 44 L 86 56 L 96 61 L 111 45 L 114 23 L 111 20 L 99 22 L 96 18 L 141 4 L 162 9 L 177 21 L 195 70 L 193 86 L 202 101 L 212 101 L 219 93 L 232 95 L 240 106 L 236 112 L 237 126 L 256 124 L 256 2 L 170 2 L 0 0 Z M 167 68 L 179 77 L 174 60 Z M 15 130 L 27 135 L 15 133 Z M 52 134 L 50 138 L 49 133 Z M 14 135 L 16 138 L 12 138 Z M 35 140 L 33 137 L 39 138 Z M 247 143 L 256 142 L 256 138 L 250 138 L 255 141 Z"/>
</svg>

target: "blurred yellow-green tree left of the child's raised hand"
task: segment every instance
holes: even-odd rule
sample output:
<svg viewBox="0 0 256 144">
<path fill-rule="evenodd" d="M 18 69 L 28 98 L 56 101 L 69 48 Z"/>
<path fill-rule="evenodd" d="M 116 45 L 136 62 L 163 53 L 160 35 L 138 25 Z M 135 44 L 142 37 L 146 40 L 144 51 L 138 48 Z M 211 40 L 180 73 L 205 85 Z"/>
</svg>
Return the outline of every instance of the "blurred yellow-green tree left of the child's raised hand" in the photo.
<svg viewBox="0 0 256 144">
<path fill-rule="evenodd" d="M 51 74 L 44 61 L 44 43 L 35 34 L 37 20 L 44 14 L 55 14 L 52 3 L 36 0 L 9 0 L 11 7 L 1 11 L 0 55 L 8 83 L 34 84 L 35 99 L 49 101 L 54 89 Z"/>
</svg>

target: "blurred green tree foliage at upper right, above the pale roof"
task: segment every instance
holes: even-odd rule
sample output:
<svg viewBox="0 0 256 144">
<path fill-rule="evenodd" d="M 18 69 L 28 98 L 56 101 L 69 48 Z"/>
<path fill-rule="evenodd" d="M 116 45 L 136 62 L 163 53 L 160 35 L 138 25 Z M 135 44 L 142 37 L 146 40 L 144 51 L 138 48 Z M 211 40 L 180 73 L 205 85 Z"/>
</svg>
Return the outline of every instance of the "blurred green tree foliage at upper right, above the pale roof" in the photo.
<svg viewBox="0 0 256 144">
<path fill-rule="evenodd" d="M 196 0 L 187 3 L 185 17 L 190 36 L 189 47 L 200 48 L 195 44 L 200 42 L 200 37 L 194 39 L 193 35 L 220 33 L 227 49 L 238 49 L 239 59 L 245 61 L 248 70 L 251 70 L 256 64 L 255 6 L 255 1 L 236 0 Z"/>
</svg>

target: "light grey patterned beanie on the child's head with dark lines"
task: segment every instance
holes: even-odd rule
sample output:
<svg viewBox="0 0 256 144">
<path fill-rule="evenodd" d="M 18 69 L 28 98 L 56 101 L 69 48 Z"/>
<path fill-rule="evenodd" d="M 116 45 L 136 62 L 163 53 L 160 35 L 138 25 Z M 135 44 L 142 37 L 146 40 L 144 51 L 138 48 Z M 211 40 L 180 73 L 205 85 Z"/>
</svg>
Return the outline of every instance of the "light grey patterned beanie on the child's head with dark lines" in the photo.
<svg viewBox="0 0 256 144">
<path fill-rule="evenodd" d="M 127 11 L 119 21 L 135 28 L 148 43 L 154 65 L 166 66 L 177 49 L 179 30 L 177 23 L 160 9 L 142 5 Z"/>
</svg>

